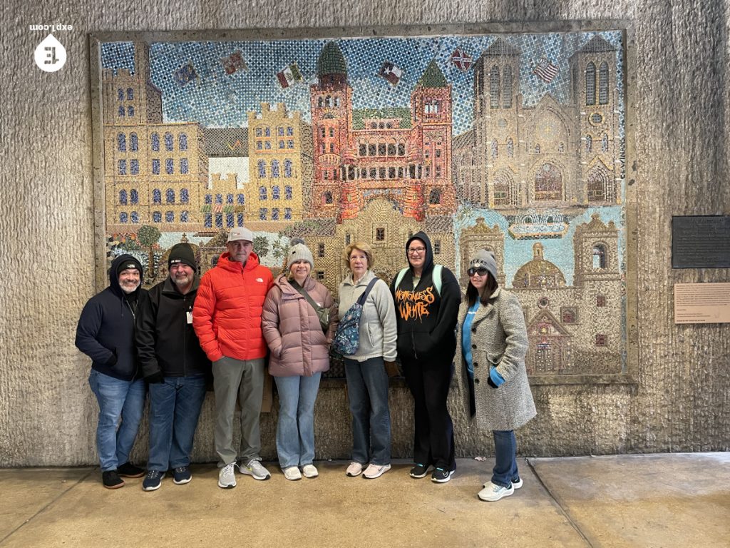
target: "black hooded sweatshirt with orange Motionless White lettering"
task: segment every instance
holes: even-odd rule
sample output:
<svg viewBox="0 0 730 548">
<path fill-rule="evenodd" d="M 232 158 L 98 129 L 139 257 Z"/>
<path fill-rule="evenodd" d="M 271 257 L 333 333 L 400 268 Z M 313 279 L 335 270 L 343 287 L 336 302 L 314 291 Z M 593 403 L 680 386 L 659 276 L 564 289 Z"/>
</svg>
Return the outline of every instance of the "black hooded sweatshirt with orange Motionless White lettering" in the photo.
<svg viewBox="0 0 730 548">
<path fill-rule="evenodd" d="M 425 232 L 417 232 L 406 242 L 408 247 L 413 240 L 421 240 L 426 248 L 426 259 L 418 286 L 413 287 L 413 267 L 403 276 L 398 287 L 396 278 L 391 283 L 391 293 L 396 302 L 398 322 L 398 356 L 401 359 L 418 360 L 423 367 L 429 362 L 434 365 L 452 362 L 456 352 L 456 316 L 461 302 L 461 290 L 456 276 L 446 267 L 442 270 L 441 291 L 438 292 L 432 275 L 434 272 L 434 253 L 431 240 Z"/>
</svg>

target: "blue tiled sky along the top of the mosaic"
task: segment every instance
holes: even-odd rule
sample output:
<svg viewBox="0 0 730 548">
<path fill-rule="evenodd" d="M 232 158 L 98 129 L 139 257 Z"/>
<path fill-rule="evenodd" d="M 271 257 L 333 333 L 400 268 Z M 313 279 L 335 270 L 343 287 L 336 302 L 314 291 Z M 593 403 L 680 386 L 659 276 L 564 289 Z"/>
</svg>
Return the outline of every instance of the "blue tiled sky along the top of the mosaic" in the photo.
<svg viewBox="0 0 730 548">
<path fill-rule="evenodd" d="M 568 59 L 596 34 L 616 47 L 617 66 L 621 71 L 621 31 L 502 36 L 522 52 L 520 91 L 523 103 L 532 106 L 545 94 L 553 95 L 558 102 L 566 102 L 569 94 Z M 453 129 L 456 135 L 472 126 L 474 72 L 472 69 L 461 72 L 450 61 L 451 53 L 458 47 L 476 61 L 498 37 L 489 34 L 479 37 L 339 39 L 337 42 L 347 61 L 347 76 L 353 88 L 353 107 L 356 109 L 407 107 L 415 83 L 435 58 L 446 79 L 453 85 Z M 153 83 L 163 92 L 164 121 L 196 121 L 206 127 L 242 127 L 247 123 L 247 111 L 260 110 L 261 102 L 283 102 L 289 110 L 301 111 L 304 119 L 309 121 L 309 84 L 315 83 L 317 58 L 326 42 L 327 39 L 155 42 L 150 48 L 150 69 Z M 227 75 L 220 59 L 237 50 L 242 52 L 247 69 Z M 541 58 L 547 58 L 560 69 L 550 83 L 532 74 Z M 397 85 L 377 76 L 385 61 L 403 70 Z M 304 83 L 281 88 L 277 72 L 295 62 L 304 75 Z M 174 73 L 185 64 L 192 64 L 198 77 L 180 85 Z M 131 42 L 103 44 L 101 65 L 134 71 L 134 45 Z M 621 72 L 617 80 L 618 96 L 622 97 Z M 623 113 L 623 104 L 620 110 Z"/>
</svg>

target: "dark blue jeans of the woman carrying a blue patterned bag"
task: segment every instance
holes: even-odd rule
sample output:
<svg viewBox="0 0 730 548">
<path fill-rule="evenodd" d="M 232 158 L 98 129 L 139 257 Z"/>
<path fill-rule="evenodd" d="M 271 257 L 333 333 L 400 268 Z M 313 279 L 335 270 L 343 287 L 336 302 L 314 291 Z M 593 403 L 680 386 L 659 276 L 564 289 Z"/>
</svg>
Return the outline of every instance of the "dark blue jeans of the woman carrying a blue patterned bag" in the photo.
<svg viewBox="0 0 730 548">
<path fill-rule="evenodd" d="M 353 414 L 353 460 L 361 464 L 390 464 L 391 411 L 383 357 L 364 362 L 345 358 L 345 378 Z"/>
</svg>

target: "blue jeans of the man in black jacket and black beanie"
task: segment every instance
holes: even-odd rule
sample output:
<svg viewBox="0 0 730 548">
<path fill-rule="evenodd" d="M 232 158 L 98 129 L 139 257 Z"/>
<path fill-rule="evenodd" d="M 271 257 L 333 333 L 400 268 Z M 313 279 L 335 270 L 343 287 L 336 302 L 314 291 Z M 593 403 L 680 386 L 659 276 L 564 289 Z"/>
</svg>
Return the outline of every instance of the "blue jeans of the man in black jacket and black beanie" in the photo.
<svg viewBox="0 0 730 548">
<path fill-rule="evenodd" d="M 190 465 L 193 435 L 205 399 L 205 376 L 165 377 L 150 384 L 150 457 L 147 470 Z"/>
</svg>

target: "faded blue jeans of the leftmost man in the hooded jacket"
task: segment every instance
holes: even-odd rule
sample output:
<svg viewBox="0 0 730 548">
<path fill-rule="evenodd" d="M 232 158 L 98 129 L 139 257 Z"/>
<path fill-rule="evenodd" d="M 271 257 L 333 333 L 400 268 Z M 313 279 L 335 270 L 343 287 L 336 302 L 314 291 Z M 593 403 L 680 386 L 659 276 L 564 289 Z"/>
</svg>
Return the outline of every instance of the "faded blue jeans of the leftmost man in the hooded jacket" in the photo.
<svg viewBox="0 0 730 548">
<path fill-rule="evenodd" d="M 95 369 L 89 374 L 89 386 L 99 402 L 96 452 L 101 471 L 116 470 L 129 460 L 145 410 L 147 387 L 141 378 L 122 381 Z"/>
</svg>

